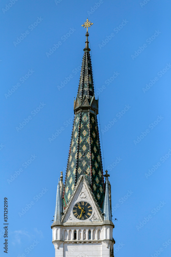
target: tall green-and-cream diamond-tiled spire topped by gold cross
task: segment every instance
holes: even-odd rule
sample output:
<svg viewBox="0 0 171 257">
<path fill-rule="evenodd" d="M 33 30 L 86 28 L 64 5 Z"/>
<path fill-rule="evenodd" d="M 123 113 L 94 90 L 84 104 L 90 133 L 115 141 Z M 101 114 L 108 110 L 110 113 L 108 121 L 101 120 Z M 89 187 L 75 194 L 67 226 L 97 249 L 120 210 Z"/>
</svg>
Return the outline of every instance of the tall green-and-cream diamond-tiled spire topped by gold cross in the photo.
<svg viewBox="0 0 171 257">
<path fill-rule="evenodd" d="M 92 25 L 87 19 L 83 26 Z M 104 180 L 97 124 L 98 100 L 94 96 L 93 73 L 86 33 L 86 47 L 82 62 L 78 94 L 74 100 L 74 124 L 69 148 L 63 193 L 64 209 L 81 175 L 87 177 L 92 192 L 103 207 Z"/>
</svg>

